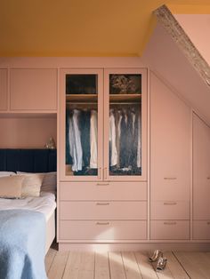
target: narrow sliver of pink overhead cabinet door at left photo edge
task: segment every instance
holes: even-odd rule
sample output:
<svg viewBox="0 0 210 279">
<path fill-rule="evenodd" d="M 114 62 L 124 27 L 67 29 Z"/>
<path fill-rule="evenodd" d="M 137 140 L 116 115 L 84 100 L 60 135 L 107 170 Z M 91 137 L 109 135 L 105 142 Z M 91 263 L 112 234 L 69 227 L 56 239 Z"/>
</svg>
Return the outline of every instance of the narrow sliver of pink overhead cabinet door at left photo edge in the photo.
<svg viewBox="0 0 210 279">
<path fill-rule="evenodd" d="M 0 110 L 7 110 L 7 69 L 0 69 Z"/>
</svg>

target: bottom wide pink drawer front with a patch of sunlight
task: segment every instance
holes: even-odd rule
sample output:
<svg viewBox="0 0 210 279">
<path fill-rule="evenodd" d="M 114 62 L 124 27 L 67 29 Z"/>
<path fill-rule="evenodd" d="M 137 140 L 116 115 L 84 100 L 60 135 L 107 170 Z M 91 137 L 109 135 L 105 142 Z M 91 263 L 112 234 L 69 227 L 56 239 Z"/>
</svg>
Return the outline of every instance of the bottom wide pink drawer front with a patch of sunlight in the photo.
<svg viewBox="0 0 210 279">
<path fill-rule="evenodd" d="M 141 240 L 147 237 L 147 221 L 67 221 L 60 223 L 61 240 Z"/>
</svg>

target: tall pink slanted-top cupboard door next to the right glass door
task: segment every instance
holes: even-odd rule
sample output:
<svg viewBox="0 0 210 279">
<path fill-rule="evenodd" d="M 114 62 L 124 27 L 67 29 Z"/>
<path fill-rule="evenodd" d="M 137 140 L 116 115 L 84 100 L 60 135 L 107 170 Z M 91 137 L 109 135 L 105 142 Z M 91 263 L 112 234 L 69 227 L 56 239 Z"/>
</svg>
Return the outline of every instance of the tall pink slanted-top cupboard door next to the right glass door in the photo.
<svg viewBox="0 0 210 279">
<path fill-rule="evenodd" d="M 150 76 L 151 200 L 190 200 L 190 108 Z"/>
</svg>

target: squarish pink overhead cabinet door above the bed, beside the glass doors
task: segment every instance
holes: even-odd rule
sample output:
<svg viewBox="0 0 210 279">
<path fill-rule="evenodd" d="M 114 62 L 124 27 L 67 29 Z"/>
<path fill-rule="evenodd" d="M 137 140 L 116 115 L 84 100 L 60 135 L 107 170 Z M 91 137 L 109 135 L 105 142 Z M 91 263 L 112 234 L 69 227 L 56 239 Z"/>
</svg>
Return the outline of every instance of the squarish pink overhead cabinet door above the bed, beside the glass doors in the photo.
<svg viewBox="0 0 210 279">
<path fill-rule="evenodd" d="M 57 69 L 12 68 L 10 71 L 11 110 L 56 110 Z"/>
</svg>

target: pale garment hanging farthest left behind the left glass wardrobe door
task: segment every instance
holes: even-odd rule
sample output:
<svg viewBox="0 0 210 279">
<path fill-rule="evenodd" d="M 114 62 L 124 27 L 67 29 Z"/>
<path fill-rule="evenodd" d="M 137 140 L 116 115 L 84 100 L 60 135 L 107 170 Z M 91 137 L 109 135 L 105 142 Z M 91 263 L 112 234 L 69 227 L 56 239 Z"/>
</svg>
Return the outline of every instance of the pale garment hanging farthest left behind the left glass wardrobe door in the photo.
<svg viewBox="0 0 210 279">
<path fill-rule="evenodd" d="M 73 110 L 69 117 L 69 151 L 72 157 L 72 171 L 82 171 L 83 168 L 83 149 L 81 145 L 81 133 L 79 130 L 78 109 Z"/>
</svg>

